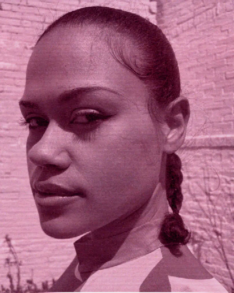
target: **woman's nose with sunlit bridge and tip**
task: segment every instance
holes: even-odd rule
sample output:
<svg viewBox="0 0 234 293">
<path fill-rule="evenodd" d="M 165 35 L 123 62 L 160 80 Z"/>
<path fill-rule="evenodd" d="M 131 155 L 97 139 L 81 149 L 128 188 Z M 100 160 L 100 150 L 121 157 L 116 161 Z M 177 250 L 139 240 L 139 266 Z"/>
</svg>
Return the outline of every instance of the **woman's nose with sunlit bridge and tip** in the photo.
<svg viewBox="0 0 234 293">
<path fill-rule="evenodd" d="M 55 123 L 48 125 L 43 136 L 27 152 L 28 159 L 37 166 L 54 166 L 67 169 L 71 159 L 66 145 L 69 133 Z"/>
</svg>

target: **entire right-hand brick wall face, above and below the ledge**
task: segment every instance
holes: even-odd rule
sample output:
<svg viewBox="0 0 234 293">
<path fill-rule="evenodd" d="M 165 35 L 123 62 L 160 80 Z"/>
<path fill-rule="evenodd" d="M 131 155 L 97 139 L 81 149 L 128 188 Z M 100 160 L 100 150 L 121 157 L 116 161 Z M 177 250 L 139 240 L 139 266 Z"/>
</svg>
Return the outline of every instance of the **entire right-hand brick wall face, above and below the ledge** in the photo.
<svg viewBox="0 0 234 293">
<path fill-rule="evenodd" d="M 175 50 L 182 94 L 191 106 L 187 139 L 178 152 L 182 214 L 195 254 L 231 290 L 222 258 L 233 274 L 234 1 L 166 0 L 158 8 L 158 24 Z"/>
</svg>

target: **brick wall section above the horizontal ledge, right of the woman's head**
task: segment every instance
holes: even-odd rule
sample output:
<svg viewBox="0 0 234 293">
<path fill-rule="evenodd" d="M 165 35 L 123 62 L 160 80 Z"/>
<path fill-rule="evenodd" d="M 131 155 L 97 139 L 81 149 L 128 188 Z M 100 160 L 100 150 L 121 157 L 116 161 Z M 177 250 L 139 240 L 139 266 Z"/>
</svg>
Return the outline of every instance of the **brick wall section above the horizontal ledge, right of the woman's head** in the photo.
<svg viewBox="0 0 234 293">
<path fill-rule="evenodd" d="M 228 134 L 233 142 L 234 2 L 163 3 L 161 28 L 176 51 L 183 93 L 199 119 L 204 116 L 201 122 L 206 122 L 199 135 Z"/>
</svg>

